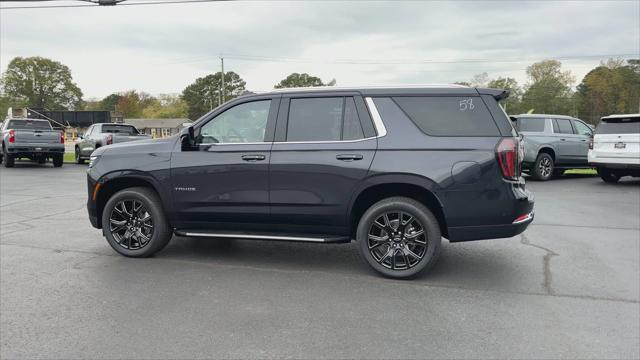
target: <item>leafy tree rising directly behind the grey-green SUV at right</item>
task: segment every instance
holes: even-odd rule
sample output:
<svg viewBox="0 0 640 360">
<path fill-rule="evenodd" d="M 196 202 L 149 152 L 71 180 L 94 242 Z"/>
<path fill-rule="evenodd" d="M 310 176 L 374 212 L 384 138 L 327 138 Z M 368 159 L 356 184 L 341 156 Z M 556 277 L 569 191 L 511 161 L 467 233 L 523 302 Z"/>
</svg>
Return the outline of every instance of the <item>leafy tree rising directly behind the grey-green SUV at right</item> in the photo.
<svg viewBox="0 0 640 360">
<path fill-rule="evenodd" d="M 543 114 L 575 114 L 571 86 L 575 79 L 557 60 L 544 60 L 527 67 L 529 83 L 522 95 L 524 109 Z"/>
</svg>

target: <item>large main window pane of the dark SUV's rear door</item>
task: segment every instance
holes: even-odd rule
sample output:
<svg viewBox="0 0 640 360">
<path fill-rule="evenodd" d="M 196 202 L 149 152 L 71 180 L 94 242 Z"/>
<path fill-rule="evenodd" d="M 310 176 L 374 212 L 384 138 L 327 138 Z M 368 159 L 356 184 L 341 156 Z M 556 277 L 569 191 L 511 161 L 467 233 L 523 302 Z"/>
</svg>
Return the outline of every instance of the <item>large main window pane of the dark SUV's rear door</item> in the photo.
<svg viewBox="0 0 640 360">
<path fill-rule="evenodd" d="M 291 99 L 287 141 L 335 141 L 342 134 L 344 98 Z"/>
</svg>

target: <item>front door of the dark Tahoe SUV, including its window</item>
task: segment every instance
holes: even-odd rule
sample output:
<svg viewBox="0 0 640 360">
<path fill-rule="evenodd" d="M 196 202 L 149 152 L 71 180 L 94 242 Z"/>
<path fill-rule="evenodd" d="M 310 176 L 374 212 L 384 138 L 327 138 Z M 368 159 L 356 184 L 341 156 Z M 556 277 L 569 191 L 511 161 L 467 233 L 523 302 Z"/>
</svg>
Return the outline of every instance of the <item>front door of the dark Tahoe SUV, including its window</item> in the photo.
<svg viewBox="0 0 640 360">
<path fill-rule="evenodd" d="M 231 104 L 194 127 L 197 148 L 176 151 L 171 159 L 176 227 L 231 229 L 268 221 L 278 103 Z"/>
</svg>

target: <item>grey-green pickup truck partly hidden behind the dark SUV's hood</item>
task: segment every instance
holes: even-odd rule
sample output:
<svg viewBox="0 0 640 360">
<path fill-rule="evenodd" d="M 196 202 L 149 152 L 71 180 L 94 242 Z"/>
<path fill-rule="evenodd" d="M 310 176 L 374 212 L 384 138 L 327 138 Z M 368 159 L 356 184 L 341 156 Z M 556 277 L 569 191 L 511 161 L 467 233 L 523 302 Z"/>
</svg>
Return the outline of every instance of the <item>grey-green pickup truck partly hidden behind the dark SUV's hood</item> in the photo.
<svg viewBox="0 0 640 360">
<path fill-rule="evenodd" d="M 75 146 L 76 163 L 84 164 L 91 153 L 102 146 L 148 139 L 151 139 L 150 135 L 140 134 L 134 126 L 129 124 L 93 124 L 84 135 L 79 136 Z"/>
</svg>

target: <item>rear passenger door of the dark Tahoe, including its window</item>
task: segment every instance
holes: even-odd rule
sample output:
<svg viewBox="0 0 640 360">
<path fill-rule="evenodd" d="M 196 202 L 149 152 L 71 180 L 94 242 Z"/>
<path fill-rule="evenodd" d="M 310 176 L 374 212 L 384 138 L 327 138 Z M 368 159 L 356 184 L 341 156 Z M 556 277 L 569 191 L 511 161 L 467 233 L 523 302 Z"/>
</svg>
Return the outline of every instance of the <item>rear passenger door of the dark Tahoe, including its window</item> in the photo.
<svg viewBox="0 0 640 360">
<path fill-rule="evenodd" d="M 283 98 L 271 150 L 272 222 L 290 232 L 346 234 L 348 203 L 376 147 L 359 94 Z"/>
</svg>

